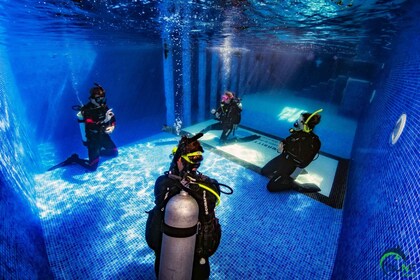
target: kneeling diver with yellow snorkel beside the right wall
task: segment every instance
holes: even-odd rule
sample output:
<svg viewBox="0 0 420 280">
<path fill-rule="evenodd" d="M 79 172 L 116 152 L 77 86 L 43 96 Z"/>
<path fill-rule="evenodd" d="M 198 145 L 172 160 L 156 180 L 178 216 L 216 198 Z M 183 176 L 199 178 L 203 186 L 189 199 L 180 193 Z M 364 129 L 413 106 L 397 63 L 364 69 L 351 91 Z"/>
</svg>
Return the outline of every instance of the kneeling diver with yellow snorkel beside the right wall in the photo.
<svg viewBox="0 0 420 280">
<path fill-rule="evenodd" d="M 279 156 L 269 161 L 261 174 L 270 178 L 267 189 L 270 192 L 295 189 L 299 192 L 318 192 L 319 187 L 314 184 L 299 185 L 290 175 L 296 168 L 305 168 L 318 154 L 321 148 L 319 137 L 313 129 L 321 121 L 319 113 L 322 109 L 311 113 L 302 113 L 290 129 L 290 136 L 279 143 Z"/>
</svg>

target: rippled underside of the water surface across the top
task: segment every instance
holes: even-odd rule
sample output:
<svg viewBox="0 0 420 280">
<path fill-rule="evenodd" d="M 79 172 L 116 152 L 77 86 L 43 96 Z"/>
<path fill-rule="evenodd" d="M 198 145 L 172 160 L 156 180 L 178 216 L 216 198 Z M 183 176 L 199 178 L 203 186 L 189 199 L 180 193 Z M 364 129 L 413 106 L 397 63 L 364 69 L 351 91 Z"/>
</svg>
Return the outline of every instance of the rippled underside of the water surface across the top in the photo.
<svg viewBox="0 0 420 280">
<path fill-rule="evenodd" d="M 165 32 L 214 46 L 270 45 L 374 60 L 391 48 L 405 1 L 2 1 L 8 45 L 51 40 L 159 44 Z M 362 48 L 362 49 L 361 49 Z M 368 53 L 363 53 L 365 50 Z"/>
</svg>

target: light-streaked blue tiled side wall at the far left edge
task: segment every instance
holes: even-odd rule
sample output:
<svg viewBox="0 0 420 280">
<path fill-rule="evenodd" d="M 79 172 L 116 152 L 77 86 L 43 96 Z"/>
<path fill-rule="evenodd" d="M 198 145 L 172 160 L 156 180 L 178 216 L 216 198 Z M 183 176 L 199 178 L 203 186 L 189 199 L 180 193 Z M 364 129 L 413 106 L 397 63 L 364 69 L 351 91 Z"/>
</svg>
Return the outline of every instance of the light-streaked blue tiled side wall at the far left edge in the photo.
<svg viewBox="0 0 420 280">
<path fill-rule="evenodd" d="M 9 57 L 0 46 L 0 279 L 52 279 L 28 171 L 35 169 L 36 153 L 25 123 Z"/>
</svg>

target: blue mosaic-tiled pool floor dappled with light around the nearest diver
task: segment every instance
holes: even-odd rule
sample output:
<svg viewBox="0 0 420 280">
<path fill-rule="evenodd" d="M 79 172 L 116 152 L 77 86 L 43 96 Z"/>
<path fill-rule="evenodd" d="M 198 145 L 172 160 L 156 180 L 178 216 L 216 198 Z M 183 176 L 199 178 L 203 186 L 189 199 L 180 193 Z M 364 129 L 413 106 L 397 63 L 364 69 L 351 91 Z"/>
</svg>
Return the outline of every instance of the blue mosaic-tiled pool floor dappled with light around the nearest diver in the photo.
<svg viewBox="0 0 420 280">
<path fill-rule="evenodd" d="M 161 133 L 119 148 L 87 173 L 68 166 L 36 176 L 50 264 L 56 279 L 154 279 L 144 238 L 156 178 L 178 137 Z M 45 167 L 62 160 L 42 149 Z M 201 172 L 234 189 L 216 209 L 222 241 L 211 279 L 330 279 L 341 210 L 293 191 L 272 194 L 268 179 L 212 152 Z"/>
</svg>

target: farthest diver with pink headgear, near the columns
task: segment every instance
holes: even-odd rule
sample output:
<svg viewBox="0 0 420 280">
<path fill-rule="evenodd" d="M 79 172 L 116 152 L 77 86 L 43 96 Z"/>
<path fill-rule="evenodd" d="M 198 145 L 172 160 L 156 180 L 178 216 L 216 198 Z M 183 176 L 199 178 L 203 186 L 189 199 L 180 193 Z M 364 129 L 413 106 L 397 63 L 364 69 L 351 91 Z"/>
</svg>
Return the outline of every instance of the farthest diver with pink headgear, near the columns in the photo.
<svg viewBox="0 0 420 280">
<path fill-rule="evenodd" d="M 201 132 L 206 133 L 209 130 L 222 130 L 220 144 L 225 144 L 231 133 L 232 135 L 235 135 L 235 130 L 241 122 L 241 112 L 241 100 L 239 98 L 235 98 L 235 95 L 232 92 L 226 91 L 222 95 L 219 108 L 217 108 L 217 110 L 211 110 L 211 113 L 219 122 L 206 127 Z"/>
</svg>

